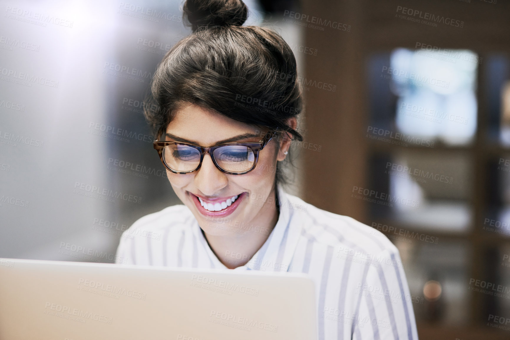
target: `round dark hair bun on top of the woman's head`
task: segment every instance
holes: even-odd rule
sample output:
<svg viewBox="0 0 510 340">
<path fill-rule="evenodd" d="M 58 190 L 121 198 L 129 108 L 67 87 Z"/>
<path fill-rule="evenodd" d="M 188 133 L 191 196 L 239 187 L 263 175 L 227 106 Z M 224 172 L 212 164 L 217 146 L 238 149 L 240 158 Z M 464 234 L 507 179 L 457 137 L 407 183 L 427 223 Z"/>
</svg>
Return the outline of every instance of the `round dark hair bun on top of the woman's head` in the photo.
<svg viewBox="0 0 510 340">
<path fill-rule="evenodd" d="M 183 12 L 193 32 L 200 27 L 240 26 L 248 18 L 248 8 L 241 0 L 186 0 Z"/>
</svg>

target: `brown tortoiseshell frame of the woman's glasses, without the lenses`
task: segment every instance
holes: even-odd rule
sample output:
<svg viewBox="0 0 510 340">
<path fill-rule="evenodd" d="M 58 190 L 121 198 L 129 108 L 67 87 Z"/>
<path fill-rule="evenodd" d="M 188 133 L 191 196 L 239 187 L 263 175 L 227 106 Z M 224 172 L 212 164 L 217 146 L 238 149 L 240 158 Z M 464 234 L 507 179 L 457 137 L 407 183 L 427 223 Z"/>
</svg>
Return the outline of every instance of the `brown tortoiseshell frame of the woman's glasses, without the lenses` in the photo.
<svg viewBox="0 0 510 340">
<path fill-rule="evenodd" d="M 209 155 L 211 156 L 211 160 L 213 161 L 214 165 L 216 166 L 216 168 L 218 170 L 220 170 L 221 172 L 227 173 L 227 174 L 231 174 L 231 175 L 242 175 L 242 174 L 250 172 L 257 166 L 257 162 L 259 161 L 259 151 L 262 150 L 269 143 L 269 141 L 271 141 L 273 139 L 274 136 L 276 136 L 276 134 L 274 132 L 270 131 L 264 136 L 264 138 L 260 142 L 246 142 L 246 143 L 230 142 L 230 143 L 224 143 L 224 144 L 219 144 L 219 145 L 210 146 L 210 147 L 203 147 L 200 145 L 193 145 L 190 143 L 173 142 L 173 141 L 154 141 L 154 142 L 152 142 L 152 144 L 154 144 L 154 148 L 156 149 L 156 151 L 158 151 L 158 154 L 161 159 L 161 163 L 163 163 L 165 168 L 167 168 L 168 170 L 170 170 L 173 173 L 187 174 L 187 173 L 192 173 L 192 172 L 198 171 L 200 169 L 200 167 L 202 166 L 202 161 L 203 161 L 203 157 L 204 157 L 205 153 L 209 153 Z M 194 170 L 191 170 L 191 171 L 181 172 L 181 171 L 175 171 L 175 170 L 171 169 L 165 163 L 165 160 L 163 159 L 163 149 L 167 145 L 187 145 L 187 146 L 191 146 L 191 147 L 197 149 L 198 151 L 200 151 L 200 163 L 198 163 L 198 166 Z M 227 170 L 221 168 L 218 165 L 218 163 L 216 163 L 216 160 L 214 159 L 214 150 L 216 150 L 217 148 L 219 148 L 221 146 L 227 146 L 227 145 L 241 145 L 241 146 L 249 147 L 253 151 L 253 155 L 255 157 L 253 166 L 249 170 L 243 171 L 243 172 L 232 172 L 232 171 L 227 171 Z"/>
</svg>

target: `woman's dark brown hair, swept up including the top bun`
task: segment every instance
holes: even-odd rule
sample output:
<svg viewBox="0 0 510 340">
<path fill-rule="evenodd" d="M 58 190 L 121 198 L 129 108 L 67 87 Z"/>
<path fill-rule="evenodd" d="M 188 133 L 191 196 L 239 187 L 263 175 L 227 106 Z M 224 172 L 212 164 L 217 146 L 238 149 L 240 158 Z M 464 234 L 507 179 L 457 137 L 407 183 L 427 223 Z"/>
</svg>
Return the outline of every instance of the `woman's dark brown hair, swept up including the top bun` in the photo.
<svg viewBox="0 0 510 340">
<path fill-rule="evenodd" d="M 277 132 L 278 141 L 284 132 L 302 141 L 285 122 L 303 103 L 296 60 L 284 39 L 269 28 L 242 26 L 248 11 L 241 0 L 187 0 L 183 11 L 193 33 L 158 65 L 148 100 L 159 110 L 144 112 L 157 138 L 174 112 L 192 103 Z M 286 182 L 280 170 L 277 164 L 276 182 Z"/>
</svg>

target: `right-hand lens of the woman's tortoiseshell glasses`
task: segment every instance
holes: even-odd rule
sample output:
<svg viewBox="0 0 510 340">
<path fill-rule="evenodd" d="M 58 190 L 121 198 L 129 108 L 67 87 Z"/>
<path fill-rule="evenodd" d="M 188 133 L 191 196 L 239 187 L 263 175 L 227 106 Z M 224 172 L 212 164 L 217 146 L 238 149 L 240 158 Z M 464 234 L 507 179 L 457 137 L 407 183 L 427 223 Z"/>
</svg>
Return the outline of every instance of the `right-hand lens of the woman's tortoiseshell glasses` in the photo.
<svg viewBox="0 0 510 340">
<path fill-rule="evenodd" d="M 214 150 L 216 163 L 226 171 L 244 172 L 255 163 L 253 150 L 242 145 L 225 145 Z"/>
</svg>

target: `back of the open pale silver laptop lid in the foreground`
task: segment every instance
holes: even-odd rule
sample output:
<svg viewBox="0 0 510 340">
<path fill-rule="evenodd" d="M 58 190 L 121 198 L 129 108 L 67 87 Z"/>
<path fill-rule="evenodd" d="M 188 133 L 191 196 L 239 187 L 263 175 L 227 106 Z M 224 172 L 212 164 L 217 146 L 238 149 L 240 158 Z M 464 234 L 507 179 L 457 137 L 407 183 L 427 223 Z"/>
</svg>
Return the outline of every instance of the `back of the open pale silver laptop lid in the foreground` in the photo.
<svg viewBox="0 0 510 340">
<path fill-rule="evenodd" d="M 302 273 L 0 258 L 0 339 L 314 340 Z"/>
</svg>

